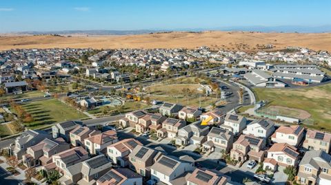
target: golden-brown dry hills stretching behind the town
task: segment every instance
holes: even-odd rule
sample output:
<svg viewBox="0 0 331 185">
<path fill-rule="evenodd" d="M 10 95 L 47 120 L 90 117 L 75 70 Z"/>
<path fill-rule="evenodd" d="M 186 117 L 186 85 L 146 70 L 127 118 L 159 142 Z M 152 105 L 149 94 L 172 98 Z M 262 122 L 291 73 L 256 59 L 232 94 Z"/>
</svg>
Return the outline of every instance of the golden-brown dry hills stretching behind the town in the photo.
<svg viewBox="0 0 331 185">
<path fill-rule="evenodd" d="M 108 48 L 196 48 L 202 45 L 216 49 L 257 50 L 257 44 L 308 47 L 331 52 L 331 33 L 261 33 L 261 32 L 171 32 L 126 36 L 1 36 L 0 50 L 12 48 L 92 47 Z"/>
</svg>

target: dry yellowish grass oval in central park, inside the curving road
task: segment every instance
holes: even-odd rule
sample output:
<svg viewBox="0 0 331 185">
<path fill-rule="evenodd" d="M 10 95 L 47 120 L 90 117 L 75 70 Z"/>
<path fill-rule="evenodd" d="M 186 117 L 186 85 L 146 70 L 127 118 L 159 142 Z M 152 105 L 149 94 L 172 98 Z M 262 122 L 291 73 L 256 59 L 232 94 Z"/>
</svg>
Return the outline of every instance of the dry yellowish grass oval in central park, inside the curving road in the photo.
<svg viewBox="0 0 331 185">
<path fill-rule="evenodd" d="M 171 85 L 155 85 L 146 88 L 151 100 L 159 100 L 163 102 L 179 103 L 181 105 L 188 105 L 194 107 L 206 107 L 212 105 L 213 102 L 220 100 L 219 98 L 214 98 L 215 95 L 205 97 L 202 91 L 198 91 L 201 87 L 199 84 L 171 84 Z M 190 89 L 192 94 L 186 96 L 183 94 L 183 89 Z M 200 96 L 200 98 L 199 98 Z"/>
</svg>

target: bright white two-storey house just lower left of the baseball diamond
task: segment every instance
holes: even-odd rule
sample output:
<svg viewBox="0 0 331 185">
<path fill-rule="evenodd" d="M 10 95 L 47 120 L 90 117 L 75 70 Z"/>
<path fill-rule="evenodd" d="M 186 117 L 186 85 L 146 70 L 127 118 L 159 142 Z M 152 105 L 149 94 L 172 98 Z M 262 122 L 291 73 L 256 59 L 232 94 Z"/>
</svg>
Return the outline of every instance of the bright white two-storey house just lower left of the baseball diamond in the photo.
<svg viewBox="0 0 331 185">
<path fill-rule="evenodd" d="M 269 138 L 274 133 L 274 122 L 271 120 L 254 120 L 243 130 L 243 134 L 259 138 Z"/>
</svg>

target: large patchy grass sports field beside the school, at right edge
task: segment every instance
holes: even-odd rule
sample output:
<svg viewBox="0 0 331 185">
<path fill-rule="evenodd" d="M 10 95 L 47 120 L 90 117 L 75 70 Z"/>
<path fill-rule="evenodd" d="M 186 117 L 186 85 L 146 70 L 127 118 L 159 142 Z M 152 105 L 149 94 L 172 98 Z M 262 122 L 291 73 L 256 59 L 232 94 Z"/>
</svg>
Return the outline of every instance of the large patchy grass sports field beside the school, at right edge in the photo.
<svg viewBox="0 0 331 185">
<path fill-rule="evenodd" d="M 331 83 L 300 89 L 254 89 L 257 100 L 267 100 L 268 106 L 281 106 L 307 111 L 316 129 L 331 131 Z M 294 111 L 289 111 L 291 116 Z M 302 113 L 302 112 L 301 112 Z M 286 115 L 286 111 L 283 112 Z"/>
</svg>

